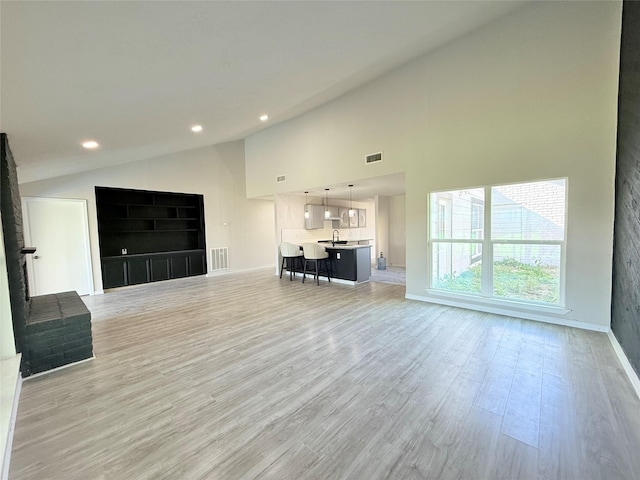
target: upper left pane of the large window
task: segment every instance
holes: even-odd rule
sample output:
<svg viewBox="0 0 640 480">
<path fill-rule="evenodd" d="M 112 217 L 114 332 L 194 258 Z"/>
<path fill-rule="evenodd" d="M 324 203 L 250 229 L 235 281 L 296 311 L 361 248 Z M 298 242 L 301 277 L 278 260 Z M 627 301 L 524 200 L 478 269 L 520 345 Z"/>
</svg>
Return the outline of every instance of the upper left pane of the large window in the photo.
<svg viewBox="0 0 640 480">
<path fill-rule="evenodd" d="M 431 238 L 484 238 L 484 189 L 432 193 Z"/>
</svg>

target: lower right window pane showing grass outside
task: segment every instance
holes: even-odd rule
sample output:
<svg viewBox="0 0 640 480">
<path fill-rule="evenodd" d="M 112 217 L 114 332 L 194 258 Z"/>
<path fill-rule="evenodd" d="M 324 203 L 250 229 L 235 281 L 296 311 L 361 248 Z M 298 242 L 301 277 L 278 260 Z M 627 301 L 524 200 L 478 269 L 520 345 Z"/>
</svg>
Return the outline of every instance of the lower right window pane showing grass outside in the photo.
<svg viewBox="0 0 640 480">
<path fill-rule="evenodd" d="M 560 303 L 560 245 L 493 246 L 493 294 Z"/>
</svg>

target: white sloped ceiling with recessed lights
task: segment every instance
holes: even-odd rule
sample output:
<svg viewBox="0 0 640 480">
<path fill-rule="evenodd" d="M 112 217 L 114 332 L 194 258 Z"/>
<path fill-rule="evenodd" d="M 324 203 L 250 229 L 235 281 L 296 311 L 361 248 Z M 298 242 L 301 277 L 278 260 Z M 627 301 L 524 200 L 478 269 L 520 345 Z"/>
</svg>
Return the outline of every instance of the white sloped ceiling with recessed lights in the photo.
<svg viewBox="0 0 640 480">
<path fill-rule="evenodd" d="M 520 5 L 1 1 L 0 130 L 21 183 L 237 140 Z"/>
</svg>

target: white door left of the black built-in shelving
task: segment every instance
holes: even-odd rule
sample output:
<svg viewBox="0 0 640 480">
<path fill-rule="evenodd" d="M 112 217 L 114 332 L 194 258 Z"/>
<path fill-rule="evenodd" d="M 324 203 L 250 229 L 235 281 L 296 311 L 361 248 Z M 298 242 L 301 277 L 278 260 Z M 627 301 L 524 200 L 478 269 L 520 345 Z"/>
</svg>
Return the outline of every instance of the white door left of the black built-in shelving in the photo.
<svg viewBox="0 0 640 480">
<path fill-rule="evenodd" d="M 61 198 L 22 199 L 29 294 L 75 290 L 93 294 L 87 202 Z"/>
</svg>

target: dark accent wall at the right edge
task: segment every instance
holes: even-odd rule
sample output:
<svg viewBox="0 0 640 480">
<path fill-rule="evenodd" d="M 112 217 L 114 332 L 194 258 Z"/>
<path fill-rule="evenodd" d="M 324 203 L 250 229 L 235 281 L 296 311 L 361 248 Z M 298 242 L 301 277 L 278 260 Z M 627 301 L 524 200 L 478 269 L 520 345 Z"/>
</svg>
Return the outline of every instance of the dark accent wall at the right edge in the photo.
<svg viewBox="0 0 640 480">
<path fill-rule="evenodd" d="M 622 7 L 611 329 L 640 373 L 640 2 Z"/>
</svg>

